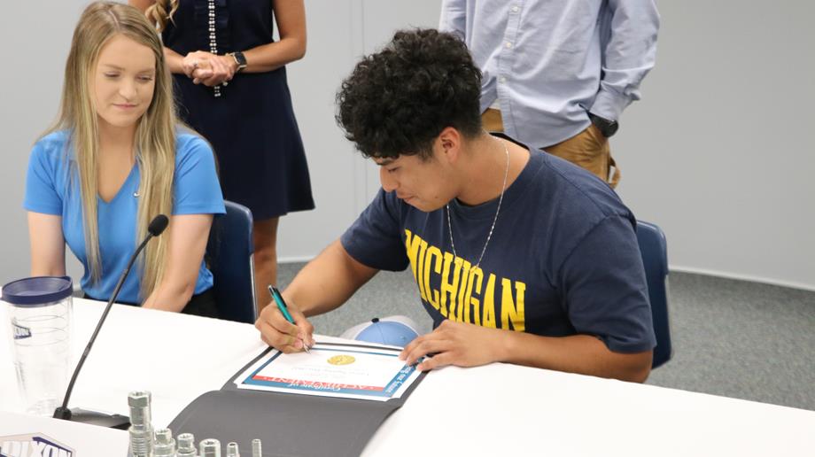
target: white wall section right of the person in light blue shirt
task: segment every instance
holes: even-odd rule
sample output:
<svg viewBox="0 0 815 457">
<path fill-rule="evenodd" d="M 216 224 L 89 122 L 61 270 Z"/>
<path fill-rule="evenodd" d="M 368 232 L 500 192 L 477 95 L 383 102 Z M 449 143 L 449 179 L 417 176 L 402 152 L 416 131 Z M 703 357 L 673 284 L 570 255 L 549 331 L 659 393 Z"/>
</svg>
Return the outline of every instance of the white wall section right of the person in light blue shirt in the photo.
<svg viewBox="0 0 815 457">
<path fill-rule="evenodd" d="M 675 269 L 815 290 L 812 2 L 661 1 L 656 67 L 612 151 Z"/>
</svg>

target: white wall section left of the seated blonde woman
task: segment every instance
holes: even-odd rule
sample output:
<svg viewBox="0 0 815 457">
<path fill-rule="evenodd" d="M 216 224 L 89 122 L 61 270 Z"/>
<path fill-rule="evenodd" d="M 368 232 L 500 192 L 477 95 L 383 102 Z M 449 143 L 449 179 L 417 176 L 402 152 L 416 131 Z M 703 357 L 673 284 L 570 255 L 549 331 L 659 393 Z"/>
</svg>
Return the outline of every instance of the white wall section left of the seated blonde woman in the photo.
<svg viewBox="0 0 815 457">
<path fill-rule="evenodd" d="M 5 2 L 0 40 L 7 54 L 0 72 L 0 283 L 28 275 L 28 232 L 22 209 L 28 153 L 54 120 L 71 35 L 86 2 Z M 82 270 L 70 254 L 68 272 Z"/>
</svg>

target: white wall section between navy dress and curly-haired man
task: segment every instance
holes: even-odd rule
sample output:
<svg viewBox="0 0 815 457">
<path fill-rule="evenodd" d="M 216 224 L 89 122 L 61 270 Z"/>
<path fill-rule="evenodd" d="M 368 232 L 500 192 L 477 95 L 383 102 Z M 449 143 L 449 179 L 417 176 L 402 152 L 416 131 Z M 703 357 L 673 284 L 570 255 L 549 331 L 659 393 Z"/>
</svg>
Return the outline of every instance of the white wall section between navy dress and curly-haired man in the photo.
<svg viewBox="0 0 815 457">
<path fill-rule="evenodd" d="M 281 220 L 282 261 L 314 257 L 342 234 L 376 194 L 379 172 L 343 137 L 334 121 L 334 97 L 359 58 L 387 43 L 396 29 L 436 27 L 439 3 L 307 1 L 307 55 L 289 66 L 288 72 L 316 209 Z"/>
</svg>

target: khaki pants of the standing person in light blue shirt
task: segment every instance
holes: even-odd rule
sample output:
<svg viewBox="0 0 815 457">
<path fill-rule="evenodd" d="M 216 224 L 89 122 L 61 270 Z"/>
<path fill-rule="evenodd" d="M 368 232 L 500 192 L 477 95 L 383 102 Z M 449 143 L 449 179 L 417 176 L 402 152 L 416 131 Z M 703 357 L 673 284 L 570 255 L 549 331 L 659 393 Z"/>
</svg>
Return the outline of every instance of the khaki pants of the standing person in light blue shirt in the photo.
<svg viewBox="0 0 815 457">
<path fill-rule="evenodd" d="M 487 108 L 484 114 L 481 115 L 481 122 L 488 132 L 504 131 L 501 112 L 498 110 Z M 586 130 L 578 133 L 578 135 L 545 149 L 554 156 L 569 160 L 578 167 L 586 168 L 586 170 L 596 174 L 604 182 L 608 182 L 611 189 L 616 188 L 617 182 L 620 182 L 620 170 L 617 168 L 614 159 L 611 158 L 609 139 L 602 136 L 600 130 L 594 127 L 594 124 L 588 126 Z M 612 167 L 614 168 L 613 172 L 611 171 Z"/>
</svg>

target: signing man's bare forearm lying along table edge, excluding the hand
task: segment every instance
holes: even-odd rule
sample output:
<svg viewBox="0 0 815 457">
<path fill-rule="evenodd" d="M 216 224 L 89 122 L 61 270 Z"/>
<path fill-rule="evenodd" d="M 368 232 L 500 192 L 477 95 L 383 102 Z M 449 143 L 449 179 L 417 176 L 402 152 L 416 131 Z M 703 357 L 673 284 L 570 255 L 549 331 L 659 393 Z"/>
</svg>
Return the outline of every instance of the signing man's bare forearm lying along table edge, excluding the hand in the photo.
<svg viewBox="0 0 815 457">
<path fill-rule="evenodd" d="M 501 360 L 518 365 L 555 369 L 642 383 L 651 370 L 651 351 L 611 352 L 589 335 L 539 337 L 523 332 L 502 332 Z"/>
</svg>

